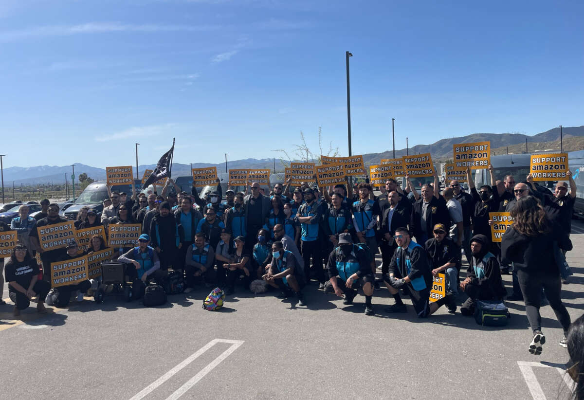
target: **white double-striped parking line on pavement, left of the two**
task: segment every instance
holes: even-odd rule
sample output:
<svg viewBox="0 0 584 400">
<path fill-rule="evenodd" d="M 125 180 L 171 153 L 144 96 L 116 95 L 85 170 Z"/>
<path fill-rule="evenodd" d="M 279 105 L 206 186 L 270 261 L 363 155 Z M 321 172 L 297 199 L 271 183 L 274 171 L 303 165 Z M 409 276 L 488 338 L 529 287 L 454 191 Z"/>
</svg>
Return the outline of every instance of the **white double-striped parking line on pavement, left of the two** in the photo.
<svg viewBox="0 0 584 400">
<path fill-rule="evenodd" d="M 225 360 L 231 353 L 233 353 L 239 346 L 244 343 L 244 340 L 230 340 L 230 339 L 213 339 L 211 342 L 208 342 L 206 345 L 201 347 L 199 350 L 191 354 L 185 360 L 181 361 L 171 370 L 169 370 L 166 374 L 162 375 L 160 378 L 152 382 L 150 385 L 142 389 L 138 394 L 134 395 L 130 400 L 140 400 L 150 394 L 154 389 L 158 388 L 160 385 L 164 384 L 164 382 L 168 381 L 170 378 L 173 377 L 178 371 L 185 368 L 187 365 L 192 363 L 197 357 L 201 354 L 206 352 L 208 349 L 213 347 L 217 343 L 231 343 L 232 346 L 229 349 L 225 350 L 219 357 L 211 361 L 211 363 L 207 364 L 203 370 L 199 371 L 194 377 L 190 378 L 188 382 L 182 385 L 178 390 L 176 390 L 169 399 L 178 399 L 181 395 L 183 395 L 187 390 L 192 388 L 197 382 L 199 382 L 205 375 L 207 375 L 213 368 L 215 368 L 221 361 Z"/>
</svg>

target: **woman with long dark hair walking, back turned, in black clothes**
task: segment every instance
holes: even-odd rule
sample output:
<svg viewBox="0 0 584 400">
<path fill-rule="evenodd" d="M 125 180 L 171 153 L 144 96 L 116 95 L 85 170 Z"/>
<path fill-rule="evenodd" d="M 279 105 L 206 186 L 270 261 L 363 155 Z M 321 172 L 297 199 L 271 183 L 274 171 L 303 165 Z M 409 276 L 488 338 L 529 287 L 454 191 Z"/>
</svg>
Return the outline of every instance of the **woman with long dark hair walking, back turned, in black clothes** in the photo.
<svg viewBox="0 0 584 400">
<path fill-rule="evenodd" d="M 542 288 L 556 318 L 564 328 L 564 337 L 559 345 L 566 347 L 570 315 L 562 304 L 562 282 L 555 253 L 558 248 L 571 250 L 572 242 L 565 229 L 552 225 L 536 197 L 526 196 L 517 200 L 511 217 L 514 219 L 513 225 L 503 235 L 501 252 L 503 259 L 512 262 L 513 268 L 517 269 L 517 280 L 523 293 L 527 319 L 533 330 L 529 352 L 541 354 L 545 343 L 540 315 Z"/>
</svg>

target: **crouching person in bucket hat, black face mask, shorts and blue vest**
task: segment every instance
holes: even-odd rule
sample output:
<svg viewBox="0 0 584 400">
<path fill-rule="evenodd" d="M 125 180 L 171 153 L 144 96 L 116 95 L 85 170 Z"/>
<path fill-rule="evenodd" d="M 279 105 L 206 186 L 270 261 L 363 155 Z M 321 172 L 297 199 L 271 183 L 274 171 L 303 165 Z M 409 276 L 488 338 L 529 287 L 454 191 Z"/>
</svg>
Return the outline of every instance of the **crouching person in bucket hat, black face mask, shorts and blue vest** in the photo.
<svg viewBox="0 0 584 400">
<path fill-rule="evenodd" d="M 371 262 L 369 253 L 359 245 L 353 244 L 351 234 L 339 234 L 339 246 L 337 246 L 329 255 L 326 269 L 331 277 L 332 287 L 335 294 L 342 297 L 345 293 L 343 304 L 353 304 L 353 299 L 357 295 L 357 287 L 363 287 L 365 294 L 365 314 L 373 314 L 373 297 L 374 277 L 371 272 Z"/>
</svg>

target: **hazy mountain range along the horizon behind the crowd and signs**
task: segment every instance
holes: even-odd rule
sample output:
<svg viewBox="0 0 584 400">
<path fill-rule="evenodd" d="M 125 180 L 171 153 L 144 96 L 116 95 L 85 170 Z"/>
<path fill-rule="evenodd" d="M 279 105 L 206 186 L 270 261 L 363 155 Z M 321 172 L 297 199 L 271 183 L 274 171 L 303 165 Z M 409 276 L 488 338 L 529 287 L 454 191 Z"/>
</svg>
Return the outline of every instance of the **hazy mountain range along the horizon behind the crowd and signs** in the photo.
<svg viewBox="0 0 584 400">
<path fill-rule="evenodd" d="M 570 138 L 583 138 L 584 137 L 584 126 L 579 127 L 563 127 L 562 134 L 564 138 L 564 151 L 575 151 L 582 149 L 582 140 L 571 140 Z M 548 131 L 539 133 L 537 135 L 528 136 L 519 133 L 474 133 L 463 137 L 453 137 L 441 139 L 433 144 L 429 145 L 412 145 L 409 149 L 396 149 L 395 156 L 401 157 L 406 155 L 406 153 L 413 154 L 415 149 L 417 153 L 427 153 L 432 154 L 433 161 L 443 161 L 452 156 L 452 147 L 454 144 L 468 143 L 468 142 L 481 142 L 490 141 L 491 149 L 493 149 L 493 154 L 502 154 L 502 148 L 510 147 L 510 153 L 523 151 L 522 145 L 528 142 L 528 149 L 531 147 L 530 151 L 534 149 L 548 151 L 557 147 L 559 152 L 559 127 L 552 128 Z M 413 142 L 413 140 L 411 141 Z M 545 144 L 544 144 L 545 142 Z M 391 146 L 391 142 L 388 142 Z M 550 147 L 550 145 L 552 147 Z M 494 151 L 498 149 L 499 151 Z M 271 149 L 270 149 L 271 150 Z M 554 149 L 555 151 L 555 149 Z M 387 150 L 380 153 L 369 153 L 363 154 L 363 161 L 366 165 L 377 164 L 382 158 L 393 158 L 393 152 Z M 276 171 L 283 171 L 284 165 L 287 165 L 290 161 L 276 158 L 246 158 L 241 160 L 229 161 L 228 168 L 258 168 L 258 169 L 271 169 L 274 170 L 274 164 L 276 166 Z M 105 179 L 106 171 L 105 168 L 97 168 L 94 166 L 89 166 L 85 164 L 75 163 L 75 175 L 78 177 L 81 173 L 86 173 L 89 177 L 100 180 Z M 145 169 L 154 169 L 155 164 L 140 165 L 138 166 L 138 172 L 140 175 L 144 173 Z M 220 162 L 218 164 L 210 163 L 194 163 L 193 168 L 205 168 L 208 166 L 216 166 L 217 172 L 225 171 L 225 163 Z M 31 167 L 19 167 L 12 166 L 4 169 L 4 183 L 6 186 L 10 186 L 9 183 L 14 182 L 15 185 L 34 185 L 39 183 L 61 183 L 65 181 L 65 173 L 67 173 L 68 179 L 70 180 L 71 165 L 66 166 L 31 166 Z M 190 175 L 190 165 L 189 164 L 172 164 L 172 175 L 173 176 L 183 176 Z"/>
</svg>

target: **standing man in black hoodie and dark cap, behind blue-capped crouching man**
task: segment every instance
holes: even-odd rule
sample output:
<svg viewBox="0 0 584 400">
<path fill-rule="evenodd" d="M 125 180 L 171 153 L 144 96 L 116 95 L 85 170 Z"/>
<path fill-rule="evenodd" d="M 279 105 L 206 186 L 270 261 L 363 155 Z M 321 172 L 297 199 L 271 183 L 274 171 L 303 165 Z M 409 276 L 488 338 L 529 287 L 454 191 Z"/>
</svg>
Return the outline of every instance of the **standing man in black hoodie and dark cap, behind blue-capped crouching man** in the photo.
<svg viewBox="0 0 584 400">
<path fill-rule="evenodd" d="M 162 270 L 167 270 L 171 265 L 176 269 L 177 249 L 182 248 L 184 241 L 182 227 L 180 228 L 179 232 L 179 225 L 176 224 L 175 216 L 171 214 L 171 205 L 168 201 L 163 201 L 159 214 L 155 215 L 150 225 L 152 247 L 158 253 Z"/>
</svg>

